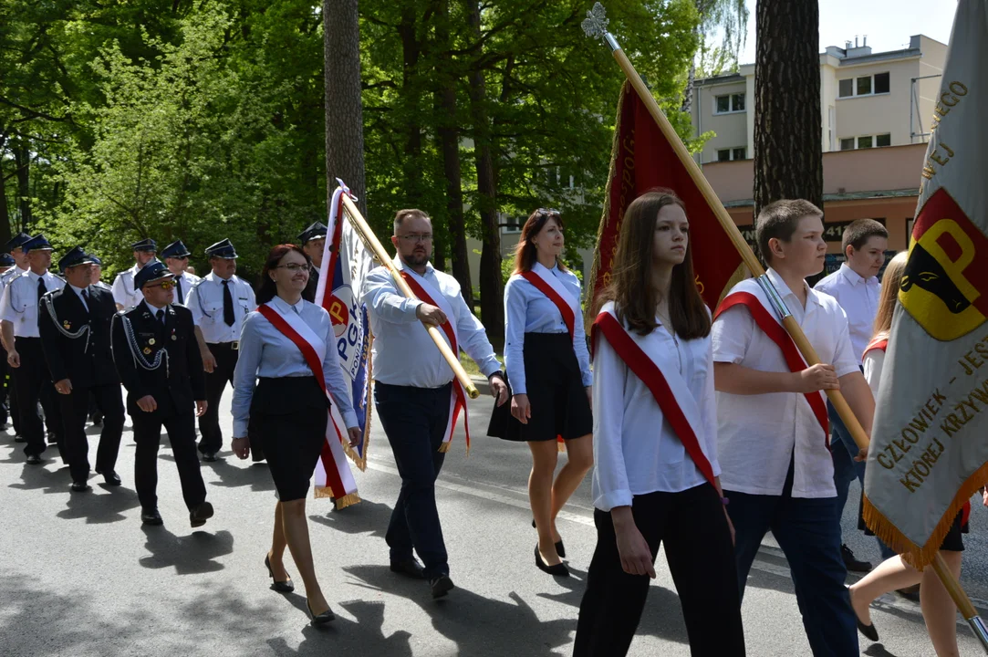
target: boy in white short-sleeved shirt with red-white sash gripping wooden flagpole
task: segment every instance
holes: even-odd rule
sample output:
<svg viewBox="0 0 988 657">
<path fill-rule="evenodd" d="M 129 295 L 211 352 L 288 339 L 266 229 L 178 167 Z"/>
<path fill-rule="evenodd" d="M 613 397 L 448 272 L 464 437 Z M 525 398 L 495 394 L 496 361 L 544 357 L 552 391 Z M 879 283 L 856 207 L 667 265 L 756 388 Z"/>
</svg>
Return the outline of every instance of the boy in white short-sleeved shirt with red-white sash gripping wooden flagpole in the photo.
<svg viewBox="0 0 988 657">
<path fill-rule="evenodd" d="M 738 586 L 743 595 L 771 531 L 788 559 L 813 654 L 857 655 L 821 390 L 840 388 L 868 433 L 874 401 L 844 311 L 804 280 L 823 269 L 823 212 L 807 201 L 777 201 L 759 213 L 756 234 L 769 280 L 821 363 L 804 367 L 755 281 L 739 283 L 720 304 L 712 329 L 718 452 Z"/>
</svg>

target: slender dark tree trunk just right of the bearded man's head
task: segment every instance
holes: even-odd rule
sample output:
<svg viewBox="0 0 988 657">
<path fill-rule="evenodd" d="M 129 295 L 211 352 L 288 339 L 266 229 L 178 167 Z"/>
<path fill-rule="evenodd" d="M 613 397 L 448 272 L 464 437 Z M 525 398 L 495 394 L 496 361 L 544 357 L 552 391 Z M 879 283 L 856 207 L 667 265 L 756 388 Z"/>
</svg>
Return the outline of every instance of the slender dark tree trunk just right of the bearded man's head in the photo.
<svg viewBox="0 0 988 657">
<path fill-rule="evenodd" d="M 436 15 L 436 41 L 441 52 L 450 50 L 450 0 L 439 0 Z M 444 55 L 449 56 L 449 55 Z M 448 66 L 452 62 L 446 62 Z M 463 185 L 459 163 L 459 129 L 456 125 L 456 78 L 447 70 L 436 92 L 437 132 L 443 154 L 446 178 L 446 209 L 450 226 L 450 259 L 453 278 L 459 282 L 463 299 L 473 308 L 473 285 L 467 260 L 466 224 L 463 219 Z"/>
</svg>

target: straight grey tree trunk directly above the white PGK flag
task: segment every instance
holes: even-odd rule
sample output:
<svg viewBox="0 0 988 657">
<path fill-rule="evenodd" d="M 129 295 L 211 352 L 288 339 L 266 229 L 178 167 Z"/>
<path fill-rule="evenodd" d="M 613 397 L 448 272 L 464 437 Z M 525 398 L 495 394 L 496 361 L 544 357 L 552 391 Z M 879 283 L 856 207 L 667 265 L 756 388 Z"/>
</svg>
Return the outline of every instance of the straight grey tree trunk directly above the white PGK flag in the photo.
<svg viewBox="0 0 988 657">
<path fill-rule="evenodd" d="M 367 216 L 364 110 L 361 103 L 361 35 L 357 0 L 323 0 L 326 90 L 326 205 L 341 179 Z"/>
</svg>

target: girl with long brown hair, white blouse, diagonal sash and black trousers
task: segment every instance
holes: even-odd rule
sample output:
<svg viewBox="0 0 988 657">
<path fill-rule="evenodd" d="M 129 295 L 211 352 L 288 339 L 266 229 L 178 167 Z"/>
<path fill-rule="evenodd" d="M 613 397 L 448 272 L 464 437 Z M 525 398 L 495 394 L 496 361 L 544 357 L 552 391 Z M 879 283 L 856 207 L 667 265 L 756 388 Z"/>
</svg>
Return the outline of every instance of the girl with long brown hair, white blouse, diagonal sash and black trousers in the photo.
<svg viewBox="0 0 988 657">
<path fill-rule="evenodd" d="M 574 657 L 627 652 L 660 543 L 693 655 L 743 655 L 732 528 L 717 463 L 710 313 L 670 191 L 628 205 L 594 323 L 597 549 Z M 663 387 L 663 384 L 666 387 Z"/>
</svg>

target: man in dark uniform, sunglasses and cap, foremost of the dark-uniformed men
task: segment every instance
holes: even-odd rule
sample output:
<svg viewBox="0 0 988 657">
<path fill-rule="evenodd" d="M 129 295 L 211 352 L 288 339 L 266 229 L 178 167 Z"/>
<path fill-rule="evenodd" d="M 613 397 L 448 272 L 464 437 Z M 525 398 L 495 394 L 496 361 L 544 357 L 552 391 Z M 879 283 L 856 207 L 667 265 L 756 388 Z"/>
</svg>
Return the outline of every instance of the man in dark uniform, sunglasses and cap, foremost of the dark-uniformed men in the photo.
<svg viewBox="0 0 988 657">
<path fill-rule="evenodd" d="M 206 381 L 192 313 L 172 305 L 174 278 L 159 260 L 137 272 L 133 283 L 143 299 L 114 318 L 114 363 L 127 391 L 126 409 L 137 443 L 133 481 L 141 522 L 162 524 L 156 489 L 158 445 L 164 425 L 189 520 L 193 527 L 201 527 L 212 517 L 212 505 L 206 502 L 206 484 L 196 454 L 194 418 L 206 412 Z"/>
</svg>

